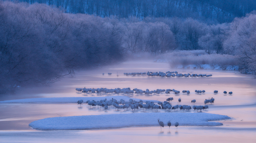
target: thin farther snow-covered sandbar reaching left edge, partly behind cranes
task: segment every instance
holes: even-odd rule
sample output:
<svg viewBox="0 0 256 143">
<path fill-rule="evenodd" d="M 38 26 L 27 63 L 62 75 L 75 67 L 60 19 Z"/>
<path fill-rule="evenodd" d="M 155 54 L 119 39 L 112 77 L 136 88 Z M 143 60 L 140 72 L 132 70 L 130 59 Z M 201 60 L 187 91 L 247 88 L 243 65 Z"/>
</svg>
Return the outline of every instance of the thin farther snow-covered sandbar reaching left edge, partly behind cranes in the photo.
<svg viewBox="0 0 256 143">
<path fill-rule="evenodd" d="M 77 103 L 78 100 L 83 100 L 86 103 L 87 100 L 103 100 L 103 99 L 116 99 L 120 101 L 120 99 L 124 99 L 125 101 L 129 101 L 129 99 L 133 99 L 135 101 L 139 101 L 140 99 L 137 98 L 130 98 L 128 96 L 100 96 L 100 97 L 52 97 L 52 98 L 27 98 L 27 99 L 15 99 L 15 100 L 6 100 L 0 101 L 0 103 Z M 146 100 L 142 100 L 146 102 Z M 156 100 L 147 100 L 147 101 L 154 101 Z"/>
</svg>

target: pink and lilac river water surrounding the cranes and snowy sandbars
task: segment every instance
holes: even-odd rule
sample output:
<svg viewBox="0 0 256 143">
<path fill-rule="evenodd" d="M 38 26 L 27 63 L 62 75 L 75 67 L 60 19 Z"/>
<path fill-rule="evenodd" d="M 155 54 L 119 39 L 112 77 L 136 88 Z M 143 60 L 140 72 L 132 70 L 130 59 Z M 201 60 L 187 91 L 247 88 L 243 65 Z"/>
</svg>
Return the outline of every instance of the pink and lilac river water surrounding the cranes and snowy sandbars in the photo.
<svg viewBox="0 0 256 143">
<path fill-rule="evenodd" d="M 158 78 L 148 76 L 124 76 L 131 72 L 167 72 L 190 74 L 212 74 L 204 78 Z M 118 72 L 118 77 L 116 76 Z M 105 73 L 103 76 L 102 73 Z M 107 73 L 112 73 L 108 76 Z M 0 142 L 255 142 L 256 140 L 256 81 L 250 75 L 236 74 L 234 71 L 170 69 L 166 63 L 130 61 L 114 66 L 106 66 L 97 70 L 80 71 L 74 77 L 65 77 L 50 87 L 37 87 L 19 91 L 15 95 L 0 97 L 0 101 L 42 97 L 102 97 L 110 95 L 76 93 L 76 88 L 138 88 L 142 90 L 175 89 L 190 90 L 190 94 L 171 92 L 160 95 L 129 95 L 131 98 L 165 101 L 173 97 L 172 105 L 204 105 L 205 99 L 215 98 L 206 113 L 227 115 L 230 120 L 217 121 L 222 126 L 179 126 L 178 130 L 171 126 L 111 128 L 102 130 L 61 130 L 40 131 L 32 129 L 29 123 L 60 116 L 82 116 L 101 114 L 132 113 L 131 110 L 120 111 L 113 108 L 93 109 L 87 104 L 72 103 L 0 103 Z M 205 94 L 196 94 L 195 90 L 205 90 Z M 213 91 L 218 90 L 218 94 Z M 232 91 L 225 95 L 223 91 Z M 137 110 L 137 113 L 144 113 Z M 154 112 L 147 110 L 147 112 Z M 164 112 L 164 110 L 158 111 Z M 168 112 L 172 114 L 173 111 Z M 183 112 L 183 110 L 178 112 Z M 190 110 L 189 112 L 196 112 Z M 120 119 L 122 120 L 122 119 Z M 131 119 L 132 120 L 132 119 Z M 157 122 L 157 121 L 156 121 Z M 100 124 L 100 123 L 99 123 Z"/>
</svg>

